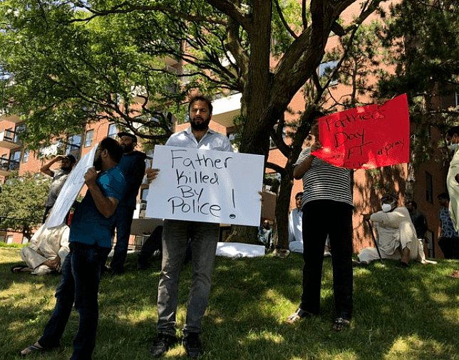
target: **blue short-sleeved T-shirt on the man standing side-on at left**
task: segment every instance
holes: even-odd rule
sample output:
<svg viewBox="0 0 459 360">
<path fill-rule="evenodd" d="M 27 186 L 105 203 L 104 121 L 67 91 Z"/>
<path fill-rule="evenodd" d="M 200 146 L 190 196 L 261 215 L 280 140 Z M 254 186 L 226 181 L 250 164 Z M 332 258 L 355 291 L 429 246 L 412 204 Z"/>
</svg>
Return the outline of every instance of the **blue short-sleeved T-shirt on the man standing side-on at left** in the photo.
<svg viewBox="0 0 459 360">
<path fill-rule="evenodd" d="M 118 201 L 123 198 L 126 181 L 118 166 L 99 174 L 96 182 L 104 196 L 116 198 Z M 69 241 L 88 245 L 97 243 L 101 248 L 111 248 L 114 226 L 115 214 L 105 218 L 98 211 L 91 191 L 88 190 L 73 213 Z"/>
</svg>

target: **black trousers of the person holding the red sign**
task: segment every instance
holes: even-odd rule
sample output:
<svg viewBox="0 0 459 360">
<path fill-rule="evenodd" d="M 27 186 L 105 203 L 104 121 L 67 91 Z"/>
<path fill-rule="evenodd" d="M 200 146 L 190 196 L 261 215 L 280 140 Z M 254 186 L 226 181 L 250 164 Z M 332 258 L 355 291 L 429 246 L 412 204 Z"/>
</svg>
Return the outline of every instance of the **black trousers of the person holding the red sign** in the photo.
<svg viewBox="0 0 459 360">
<path fill-rule="evenodd" d="M 303 295 L 300 309 L 318 314 L 324 246 L 333 249 L 336 315 L 352 316 L 352 207 L 331 200 L 309 201 L 303 207 Z"/>
</svg>

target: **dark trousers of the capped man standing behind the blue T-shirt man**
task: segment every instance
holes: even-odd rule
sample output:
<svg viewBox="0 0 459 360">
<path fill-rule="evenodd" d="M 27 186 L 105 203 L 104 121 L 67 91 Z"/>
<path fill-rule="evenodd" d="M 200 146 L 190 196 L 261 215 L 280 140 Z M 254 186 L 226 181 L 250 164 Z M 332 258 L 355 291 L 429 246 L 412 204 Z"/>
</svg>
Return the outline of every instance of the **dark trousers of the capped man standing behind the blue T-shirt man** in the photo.
<svg viewBox="0 0 459 360">
<path fill-rule="evenodd" d="M 120 272 L 124 270 L 124 262 L 128 255 L 130 237 L 130 225 L 133 223 L 135 208 L 129 206 L 118 206 L 116 210 L 116 245 L 110 268 Z"/>
</svg>

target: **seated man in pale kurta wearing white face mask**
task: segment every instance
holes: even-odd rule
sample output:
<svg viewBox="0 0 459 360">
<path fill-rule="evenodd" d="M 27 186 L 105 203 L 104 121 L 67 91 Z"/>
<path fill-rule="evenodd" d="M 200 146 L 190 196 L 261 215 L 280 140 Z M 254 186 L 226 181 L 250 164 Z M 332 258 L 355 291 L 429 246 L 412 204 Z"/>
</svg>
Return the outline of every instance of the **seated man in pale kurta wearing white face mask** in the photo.
<svg viewBox="0 0 459 360">
<path fill-rule="evenodd" d="M 378 233 L 381 258 L 401 260 L 398 268 L 408 268 L 411 260 L 430 263 L 426 260 L 423 245 L 416 236 L 408 209 L 403 206 L 397 207 L 397 199 L 396 194 L 383 194 L 382 210 L 371 216 L 365 216 L 373 221 Z M 358 256 L 362 265 L 368 265 L 371 261 L 379 259 L 376 248 L 364 248 Z"/>
</svg>

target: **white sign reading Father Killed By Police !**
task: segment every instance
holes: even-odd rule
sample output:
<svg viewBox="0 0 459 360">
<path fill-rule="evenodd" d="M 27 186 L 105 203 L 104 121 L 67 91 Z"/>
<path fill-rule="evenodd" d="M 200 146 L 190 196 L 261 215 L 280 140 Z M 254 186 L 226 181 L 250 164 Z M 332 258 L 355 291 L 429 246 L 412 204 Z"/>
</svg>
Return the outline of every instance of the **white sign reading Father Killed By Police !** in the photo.
<svg viewBox="0 0 459 360">
<path fill-rule="evenodd" d="M 145 216 L 259 226 L 264 157 L 155 146 Z"/>
</svg>

